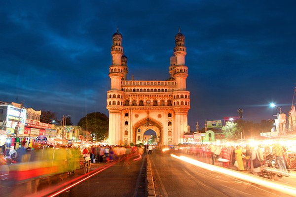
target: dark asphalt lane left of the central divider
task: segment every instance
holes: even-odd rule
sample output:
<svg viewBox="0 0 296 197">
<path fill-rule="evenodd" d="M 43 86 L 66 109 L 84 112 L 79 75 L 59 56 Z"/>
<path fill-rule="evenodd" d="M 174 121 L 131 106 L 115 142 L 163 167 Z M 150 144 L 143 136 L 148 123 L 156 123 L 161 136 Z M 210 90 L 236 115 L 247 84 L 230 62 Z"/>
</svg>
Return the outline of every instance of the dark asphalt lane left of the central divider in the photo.
<svg viewBox="0 0 296 197">
<path fill-rule="evenodd" d="M 111 166 L 59 197 L 145 197 L 146 160 L 133 159 Z"/>
</svg>

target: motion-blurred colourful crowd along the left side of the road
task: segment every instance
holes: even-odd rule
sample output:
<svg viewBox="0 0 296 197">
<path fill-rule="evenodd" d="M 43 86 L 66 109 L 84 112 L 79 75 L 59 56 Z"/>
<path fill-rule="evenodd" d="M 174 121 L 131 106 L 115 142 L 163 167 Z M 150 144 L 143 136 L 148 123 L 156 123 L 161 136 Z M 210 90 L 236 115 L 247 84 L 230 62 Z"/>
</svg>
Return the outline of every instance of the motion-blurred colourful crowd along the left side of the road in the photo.
<svg viewBox="0 0 296 197">
<path fill-rule="evenodd" d="M 83 165 L 84 157 L 91 163 L 109 163 L 132 154 L 151 154 L 152 146 L 111 145 L 46 145 L 34 143 L 32 148 L 22 141 L 15 150 L 10 144 L 0 146 L 0 182 L 9 187 L 26 182 L 26 192 L 35 193 L 40 179 L 73 174 Z M 2 186 L 1 186 L 2 187 Z M 8 188 L 9 188 L 8 187 Z"/>
</svg>

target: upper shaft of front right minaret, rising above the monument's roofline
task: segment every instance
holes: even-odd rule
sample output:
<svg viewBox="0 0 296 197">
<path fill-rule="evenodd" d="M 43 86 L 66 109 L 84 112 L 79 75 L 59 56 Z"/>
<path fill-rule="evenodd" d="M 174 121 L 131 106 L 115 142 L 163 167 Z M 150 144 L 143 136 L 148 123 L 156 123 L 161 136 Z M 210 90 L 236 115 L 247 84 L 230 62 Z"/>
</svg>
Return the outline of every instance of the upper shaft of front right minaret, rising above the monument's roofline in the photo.
<svg viewBox="0 0 296 197">
<path fill-rule="evenodd" d="M 176 79 L 177 87 L 176 90 L 186 90 L 186 78 L 188 76 L 188 67 L 185 66 L 185 36 L 181 33 L 179 28 L 179 33 L 175 36 L 176 46 L 174 48 L 174 55 L 176 57 L 176 66 L 174 67 L 174 78 Z"/>
</svg>

